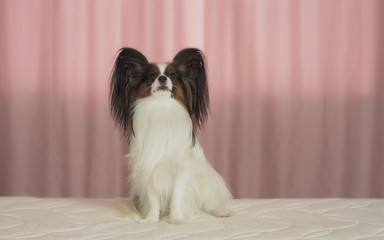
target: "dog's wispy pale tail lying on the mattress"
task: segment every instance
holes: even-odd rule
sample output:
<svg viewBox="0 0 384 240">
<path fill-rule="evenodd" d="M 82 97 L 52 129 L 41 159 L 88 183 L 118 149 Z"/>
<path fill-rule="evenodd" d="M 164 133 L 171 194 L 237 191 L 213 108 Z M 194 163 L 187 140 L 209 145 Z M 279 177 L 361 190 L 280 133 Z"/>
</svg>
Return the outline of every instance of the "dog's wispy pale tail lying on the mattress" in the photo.
<svg viewBox="0 0 384 240">
<path fill-rule="evenodd" d="M 115 217 L 128 218 L 134 222 L 142 219 L 139 211 L 137 211 L 135 201 L 129 198 L 118 199 L 111 205 L 109 213 Z"/>
</svg>

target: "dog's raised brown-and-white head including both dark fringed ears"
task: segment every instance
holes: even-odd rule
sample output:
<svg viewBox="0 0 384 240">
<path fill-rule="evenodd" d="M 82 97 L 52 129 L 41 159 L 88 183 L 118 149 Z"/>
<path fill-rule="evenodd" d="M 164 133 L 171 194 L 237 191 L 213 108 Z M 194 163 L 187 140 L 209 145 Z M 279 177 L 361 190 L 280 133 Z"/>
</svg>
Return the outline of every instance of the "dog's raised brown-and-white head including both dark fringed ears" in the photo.
<svg viewBox="0 0 384 240">
<path fill-rule="evenodd" d="M 122 48 L 112 72 L 110 102 L 123 135 L 131 133 L 134 103 L 148 96 L 174 98 L 190 114 L 193 130 L 201 128 L 209 112 L 204 54 L 187 48 L 170 63 L 149 63 L 139 51 Z"/>
</svg>

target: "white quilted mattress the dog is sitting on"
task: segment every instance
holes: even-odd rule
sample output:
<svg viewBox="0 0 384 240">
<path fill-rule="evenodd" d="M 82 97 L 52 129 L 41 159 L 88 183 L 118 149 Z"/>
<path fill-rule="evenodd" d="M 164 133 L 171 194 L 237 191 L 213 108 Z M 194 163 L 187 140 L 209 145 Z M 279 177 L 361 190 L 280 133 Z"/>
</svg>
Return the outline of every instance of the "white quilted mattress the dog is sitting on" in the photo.
<svg viewBox="0 0 384 240">
<path fill-rule="evenodd" d="M 153 225 L 113 217 L 114 200 L 0 198 L 0 239 L 384 239 L 384 199 L 234 200 L 229 218 Z"/>
</svg>

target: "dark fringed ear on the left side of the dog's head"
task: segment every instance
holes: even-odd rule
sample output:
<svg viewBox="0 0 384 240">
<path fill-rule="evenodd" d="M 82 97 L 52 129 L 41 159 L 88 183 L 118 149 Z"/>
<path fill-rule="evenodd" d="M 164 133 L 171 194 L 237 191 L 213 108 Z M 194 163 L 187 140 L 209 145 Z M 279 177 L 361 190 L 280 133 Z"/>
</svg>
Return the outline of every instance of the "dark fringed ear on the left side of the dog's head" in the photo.
<svg viewBox="0 0 384 240">
<path fill-rule="evenodd" d="M 111 112 L 126 137 L 132 130 L 134 92 L 140 86 L 148 64 L 146 57 L 132 48 L 120 49 L 115 61 L 110 85 Z"/>
</svg>

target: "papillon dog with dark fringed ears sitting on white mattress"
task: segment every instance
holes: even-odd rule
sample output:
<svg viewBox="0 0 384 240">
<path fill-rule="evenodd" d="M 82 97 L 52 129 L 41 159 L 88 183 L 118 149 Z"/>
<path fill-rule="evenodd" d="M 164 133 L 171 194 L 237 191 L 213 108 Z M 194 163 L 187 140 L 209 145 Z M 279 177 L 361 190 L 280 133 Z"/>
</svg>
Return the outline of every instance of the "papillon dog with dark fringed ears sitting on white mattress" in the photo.
<svg viewBox="0 0 384 240">
<path fill-rule="evenodd" d="M 140 222 L 169 215 L 171 223 L 185 223 L 203 212 L 231 214 L 231 193 L 195 136 L 209 113 L 204 59 L 194 48 L 180 51 L 170 63 L 149 63 L 132 48 L 121 49 L 116 58 L 111 111 L 130 144 L 126 207 L 135 208 Z"/>
</svg>

